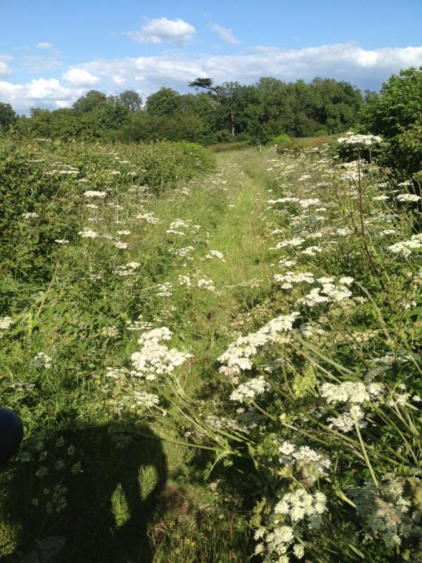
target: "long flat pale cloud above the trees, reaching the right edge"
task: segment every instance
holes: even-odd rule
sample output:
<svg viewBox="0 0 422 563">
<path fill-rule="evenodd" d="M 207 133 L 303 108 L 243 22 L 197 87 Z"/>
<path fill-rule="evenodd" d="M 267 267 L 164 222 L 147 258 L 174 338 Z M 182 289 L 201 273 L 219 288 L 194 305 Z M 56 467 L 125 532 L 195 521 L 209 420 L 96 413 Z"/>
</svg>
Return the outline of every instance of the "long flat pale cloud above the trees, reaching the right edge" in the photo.
<svg viewBox="0 0 422 563">
<path fill-rule="evenodd" d="M 362 89 L 378 89 L 392 72 L 422 65 L 422 46 L 365 50 L 357 44 L 336 44 L 306 49 L 260 46 L 234 55 L 149 56 L 97 60 L 81 68 L 103 77 L 117 76 L 144 91 L 161 86 L 186 90 L 189 80 L 212 77 L 215 82 L 251 83 L 262 76 L 280 80 L 312 80 L 316 76 L 347 80 Z M 129 84 L 128 84 L 129 86 Z"/>
</svg>

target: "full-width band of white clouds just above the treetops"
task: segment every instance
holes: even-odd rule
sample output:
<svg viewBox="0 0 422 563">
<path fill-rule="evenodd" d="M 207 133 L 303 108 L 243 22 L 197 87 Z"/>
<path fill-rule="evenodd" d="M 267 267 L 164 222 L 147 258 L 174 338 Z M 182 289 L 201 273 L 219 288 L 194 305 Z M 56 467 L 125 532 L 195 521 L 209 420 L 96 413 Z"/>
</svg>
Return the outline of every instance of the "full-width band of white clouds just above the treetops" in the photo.
<svg viewBox="0 0 422 563">
<path fill-rule="evenodd" d="M 217 84 L 226 80 L 252 84 L 262 76 L 287 82 L 319 76 L 347 80 L 362 89 L 378 89 L 392 72 L 421 65 L 422 46 L 372 50 L 352 43 L 307 49 L 258 46 L 246 53 L 197 58 L 172 53 L 98 59 L 65 72 L 63 81 L 68 87 L 56 79 L 17 85 L 0 82 L 0 99 L 20 108 L 34 105 L 56 108 L 60 104 L 70 105 L 99 80 L 108 94 L 120 92 L 124 84 L 124 89 L 139 91 L 145 98 L 162 86 L 188 91 L 188 82 L 198 76 L 211 77 Z"/>
</svg>

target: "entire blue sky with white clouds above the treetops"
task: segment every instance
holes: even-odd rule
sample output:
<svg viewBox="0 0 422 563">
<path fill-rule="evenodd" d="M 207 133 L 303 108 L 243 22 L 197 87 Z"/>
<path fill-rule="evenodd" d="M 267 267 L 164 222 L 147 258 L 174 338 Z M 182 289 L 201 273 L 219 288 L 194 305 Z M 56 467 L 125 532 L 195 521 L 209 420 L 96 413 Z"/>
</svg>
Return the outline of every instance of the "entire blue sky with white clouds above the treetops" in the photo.
<svg viewBox="0 0 422 563">
<path fill-rule="evenodd" d="M 88 89 L 187 91 L 198 76 L 316 75 L 378 89 L 422 65 L 422 0 L 1 1 L 0 101 L 69 106 Z"/>
</svg>

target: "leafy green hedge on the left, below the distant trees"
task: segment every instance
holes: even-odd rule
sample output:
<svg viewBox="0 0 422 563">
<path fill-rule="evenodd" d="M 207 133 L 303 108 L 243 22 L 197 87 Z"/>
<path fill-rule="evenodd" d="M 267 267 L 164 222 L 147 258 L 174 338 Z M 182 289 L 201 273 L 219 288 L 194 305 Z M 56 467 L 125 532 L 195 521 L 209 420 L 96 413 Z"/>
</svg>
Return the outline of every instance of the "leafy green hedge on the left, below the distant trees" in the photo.
<svg viewBox="0 0 422 563">
<path fill-rule="evenodd" d="M 84 187 L 93 190 L 127 190 L 148 184 L 160 192 L 212 169 L 204 148 L 187 143 L 166 143 L 127 149 L 130 168 L 120 163 L 119 146 L 53 144 L 32 141 L 0 146 L 0 242 L 3 267 L 13 277 L 29 283 L 51 276 L 57 258 L 56 239 L 72 242 L 79 222 L 75 206 Z M 72 162 L 72 165 L 68 164 Z M 83 174 L 86 184 L 78 182 Z M 80 230 L 80 229 L 79 229 Z M 11 261 L 11 262 L 10 262 Z M 11 282 L 3 291 L 11 298 Z M 19 291 L 19 285 L 15 293 Z"/>
</svg>

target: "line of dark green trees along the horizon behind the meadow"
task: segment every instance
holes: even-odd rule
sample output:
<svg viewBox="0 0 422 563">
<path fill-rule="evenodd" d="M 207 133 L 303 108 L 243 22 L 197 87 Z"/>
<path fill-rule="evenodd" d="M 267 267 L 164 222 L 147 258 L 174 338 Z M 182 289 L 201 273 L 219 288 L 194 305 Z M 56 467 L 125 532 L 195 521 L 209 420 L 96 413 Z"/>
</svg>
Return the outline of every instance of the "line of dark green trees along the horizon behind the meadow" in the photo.
<svg viewBox="0 0 422 563">
<path fill-rule="evenodd" d="M 189 86 L 189 94 L 163 87 L 145 103 L 132 90 L 118 96 L 90 90 L 71 108 L 32 108 L 29 116 L 0 103 L 0 130 L 54 139 L 267 143 L 280 134 L 311 137 L 350 129 L 369 97 L 349 82 L 322 78 L 307 83 L 263 77 L 252 85 L 198 78 Z"/>
</svg>

